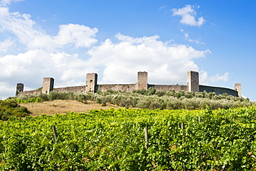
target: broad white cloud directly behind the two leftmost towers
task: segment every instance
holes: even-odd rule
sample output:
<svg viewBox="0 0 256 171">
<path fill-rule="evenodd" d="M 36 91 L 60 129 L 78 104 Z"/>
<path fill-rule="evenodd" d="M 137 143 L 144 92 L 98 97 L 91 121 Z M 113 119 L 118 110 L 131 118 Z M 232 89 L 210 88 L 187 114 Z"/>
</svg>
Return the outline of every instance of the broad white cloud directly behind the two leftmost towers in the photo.
<svg viewBox="0 0 256 171">
<path fill-rule="evenodd" d="M 29 50 L 18 55 L 1 57 L 0 68 L 0 80 L 23 82 L 26 88 L 41 87 L 43 77 L 55 78 L 56 86 L 72 86 L 67 85 L 68 83 L 83 85 L 86 73 L 93 70 L 77 54 L 49 53 L 44 50 Z"/>
</svg>

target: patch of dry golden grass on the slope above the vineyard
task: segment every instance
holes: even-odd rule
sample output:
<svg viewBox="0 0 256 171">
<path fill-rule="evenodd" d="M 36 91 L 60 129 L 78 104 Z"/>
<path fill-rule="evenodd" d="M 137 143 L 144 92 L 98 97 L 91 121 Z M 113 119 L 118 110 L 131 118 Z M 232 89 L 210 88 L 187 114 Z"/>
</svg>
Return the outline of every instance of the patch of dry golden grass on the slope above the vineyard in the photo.
<svg viewBox="0 0 256 171">
<path fill-rule="evenodd" d="M 21 103 L 19 105 L 28 108 L 33 117 L 39 116 L 41 114 L 53 115 L 56 113 L 66 113 L 66 112 L 88 112 L 89 110 L 100 110 L 109 108 L 120 108 L 118 105 L 102 106 L 94 101 L 87 101 L 86 104 L 79 101 L 66 101 L 66 100 L 55 100 L 55 101 L 44 101 L 43 103 Z"/>
</svg>

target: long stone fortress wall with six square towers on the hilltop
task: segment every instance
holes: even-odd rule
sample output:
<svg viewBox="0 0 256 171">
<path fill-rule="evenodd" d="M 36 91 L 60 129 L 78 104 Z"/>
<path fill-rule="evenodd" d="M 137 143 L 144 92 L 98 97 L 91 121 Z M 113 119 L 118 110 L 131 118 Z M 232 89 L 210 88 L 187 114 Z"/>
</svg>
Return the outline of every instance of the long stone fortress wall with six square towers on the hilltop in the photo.
<svg viewBox="0 0 256 171">
<path fill-rule="evenodd" d="M 107 90 L 132 92 L 133 90 L 147 90 L 154 88 L 155 90 L 184 90 L 185 92 L 215 92 L 218 94 L 230 94 L 235 97 L 241 97 L 241 83 L 235 83 L 235 89 L 221 88 L 214 86 L 199 85 L 199 72 L 187 72 L 187 85 L 158 85 L 149 84 L 147 82 L 147 72 L 138 72 L 137 83 L 129 84 L 97 84 L 98 74 L 86 74 L 85 86 L 72 86 L 66 88 L 54 88 L 54 79 L 51 77 L 44 78 L 42 89 L 24 91 L 24 83 L 17 83 L 16 96 L 32 95 L 53 92 L 97 92 L 98 90 L 105 92 Z"/>
</svg>

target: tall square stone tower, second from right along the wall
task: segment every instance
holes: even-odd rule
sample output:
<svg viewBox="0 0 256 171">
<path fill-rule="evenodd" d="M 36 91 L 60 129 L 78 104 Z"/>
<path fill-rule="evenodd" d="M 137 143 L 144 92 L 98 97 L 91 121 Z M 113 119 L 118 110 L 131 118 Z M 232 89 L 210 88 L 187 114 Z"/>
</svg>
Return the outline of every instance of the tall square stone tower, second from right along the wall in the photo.
<svg viewBox="0 0 256 171">
<path fill-rule="evenodd" d="M 188 92 L 199 92 L 199 72 L 187 72 Z"/>
</svg>

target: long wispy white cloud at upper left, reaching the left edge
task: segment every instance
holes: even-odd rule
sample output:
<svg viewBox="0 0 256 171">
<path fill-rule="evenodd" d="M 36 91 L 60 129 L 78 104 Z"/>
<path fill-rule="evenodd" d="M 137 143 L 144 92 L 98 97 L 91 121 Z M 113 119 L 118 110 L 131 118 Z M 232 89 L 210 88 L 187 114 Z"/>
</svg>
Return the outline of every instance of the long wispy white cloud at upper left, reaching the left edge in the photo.
<svg viewBox="0 0 256 171">
<path fill-rule="evenodd" d="M 97 41 L 93 37 L 98 32 L 97 28 L 69 23 L 61 25 L 57 36 L 53 37 L 37 27 L 29 14 L 9 12 L 7 7 L 0 8 L 0 28 L 17 36 L 28 49 L 63 48 L 69 43 L 73 43 L 75 48 L 90 47 Z"/>
</svg>

